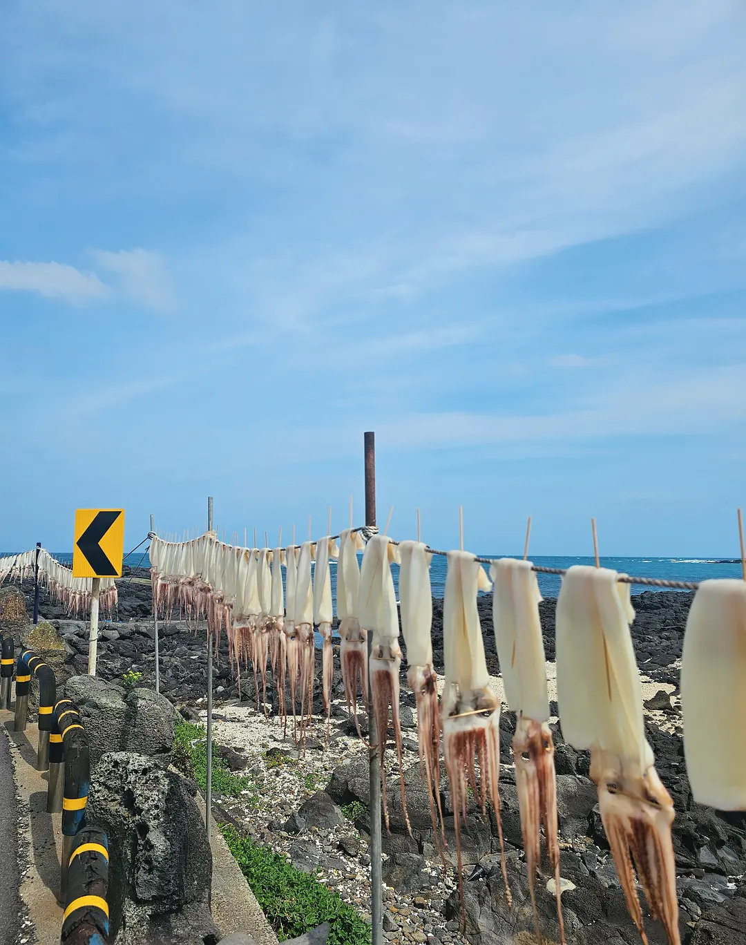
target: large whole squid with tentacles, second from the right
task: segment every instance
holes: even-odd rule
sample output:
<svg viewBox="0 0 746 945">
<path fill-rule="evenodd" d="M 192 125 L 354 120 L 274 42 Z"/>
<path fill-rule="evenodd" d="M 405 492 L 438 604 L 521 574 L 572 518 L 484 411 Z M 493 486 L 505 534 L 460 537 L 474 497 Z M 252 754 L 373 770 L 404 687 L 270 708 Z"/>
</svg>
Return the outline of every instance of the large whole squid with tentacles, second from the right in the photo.
<svg viewBox="0 0 746 945">
<path fill-rule="evenodd" d="M 630 585 L 616 571 L 575 566 L 557 601 L 557 694 L 564 739 L 591 751 L 591 778 L 634 924 L 648 942 L 633 867 L 653 918 L 680 945 L 671 843 L 673 803 L 645 738 L 634 660 Z"/>
</svg>

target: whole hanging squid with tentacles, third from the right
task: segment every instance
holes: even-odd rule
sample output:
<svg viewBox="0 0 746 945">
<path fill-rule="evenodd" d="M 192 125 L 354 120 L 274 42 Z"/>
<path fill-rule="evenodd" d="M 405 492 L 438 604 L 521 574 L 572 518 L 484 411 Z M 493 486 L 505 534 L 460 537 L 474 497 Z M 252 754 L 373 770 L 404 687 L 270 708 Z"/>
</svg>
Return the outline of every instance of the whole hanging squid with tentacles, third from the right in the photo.
<svg viewBox="0 0 746 945">
<path fill-rule="evenodd" d="M 542 596 L 530 561 L 500 558 L 494 562 L 490 576 L 494 582 L 494 643 L 505 697 L 516 716 L 512 753 L 536 938 L 541 941 L 534 884 L 541 859 L 540 830 L 543 825 L 546 855 L 554 870 L 560 941 L 564 945 L 557 781 L 554 742 L 548 726 L 546 658 L 538 607 Z"/>
</svg>

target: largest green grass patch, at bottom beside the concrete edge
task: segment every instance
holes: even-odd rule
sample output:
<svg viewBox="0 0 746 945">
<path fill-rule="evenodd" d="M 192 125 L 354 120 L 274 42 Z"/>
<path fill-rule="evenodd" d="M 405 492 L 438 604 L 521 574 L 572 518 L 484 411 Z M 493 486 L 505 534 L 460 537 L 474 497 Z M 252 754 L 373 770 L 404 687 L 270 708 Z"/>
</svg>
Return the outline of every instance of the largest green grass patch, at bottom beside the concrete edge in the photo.
<svg viewBox="0 0 746 945">
<path fill-rule="evenodd" d="M 220 828 L 252 892 L 280 941 L 302 936 L 321 922 L 331 925 L 329 945 L 367 945 L 371 930 L 352 906 L 342 902 L 315 876 L 301 872 L 284 856 Z"/>
</svg>

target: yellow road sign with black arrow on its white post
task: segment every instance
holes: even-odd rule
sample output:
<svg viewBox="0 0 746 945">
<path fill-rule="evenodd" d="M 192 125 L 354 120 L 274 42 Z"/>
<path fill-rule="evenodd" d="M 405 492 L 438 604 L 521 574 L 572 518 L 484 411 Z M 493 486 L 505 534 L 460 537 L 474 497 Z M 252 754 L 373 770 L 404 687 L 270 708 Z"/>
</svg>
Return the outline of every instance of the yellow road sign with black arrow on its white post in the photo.
<svg viewBox="0 0 746 945">
<path fill-rule="evenodd" d="M 102 577 L 121 577 L 124 558 L 124 509 L 78 508 L 75 513 L 73 577 L 91 577 L 91 631 L 88 675 L 95 676 L 98 648 L 98 597 Z"/>
</svg>

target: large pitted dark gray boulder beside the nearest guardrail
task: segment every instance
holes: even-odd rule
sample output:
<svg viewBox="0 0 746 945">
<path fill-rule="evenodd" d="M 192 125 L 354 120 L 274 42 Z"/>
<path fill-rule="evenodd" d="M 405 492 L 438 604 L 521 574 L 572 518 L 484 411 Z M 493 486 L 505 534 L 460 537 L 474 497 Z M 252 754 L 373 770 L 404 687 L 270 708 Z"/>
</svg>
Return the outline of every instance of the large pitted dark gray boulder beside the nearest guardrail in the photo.
<svg viewBox="0 0 746 945">
<path fill-rule="evenodd" d="M 184 779 L 152 758 L 106 754 L 91 779 L 86 824 L 109 837 L 113 945 L 217 938 L 212 853 Z"/>
</svg>

